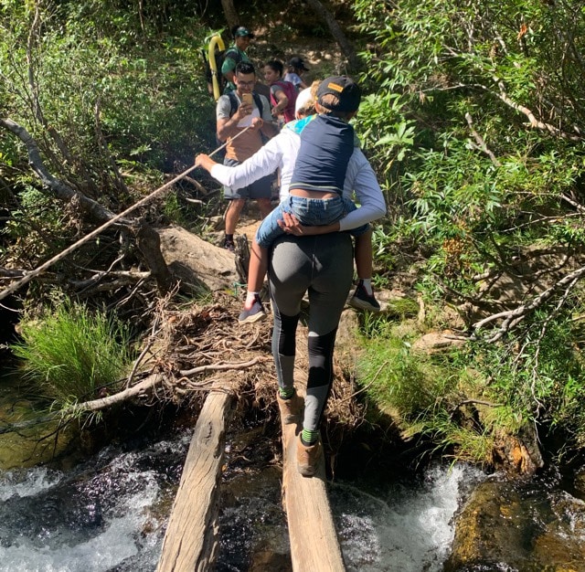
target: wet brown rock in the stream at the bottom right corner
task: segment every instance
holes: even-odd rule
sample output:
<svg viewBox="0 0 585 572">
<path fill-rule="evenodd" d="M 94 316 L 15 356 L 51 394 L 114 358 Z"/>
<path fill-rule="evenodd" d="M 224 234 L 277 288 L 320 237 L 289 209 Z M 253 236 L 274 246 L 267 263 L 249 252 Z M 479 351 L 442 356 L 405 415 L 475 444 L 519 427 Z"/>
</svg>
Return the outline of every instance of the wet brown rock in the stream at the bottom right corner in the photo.
<svg viewBox="0 0 585 572">
<path fill-rule="evenodd" d="M 445 572 L 583 570 L 585 503 L 539 482 L 487 481 L 455 517 Z"/>
</svg>

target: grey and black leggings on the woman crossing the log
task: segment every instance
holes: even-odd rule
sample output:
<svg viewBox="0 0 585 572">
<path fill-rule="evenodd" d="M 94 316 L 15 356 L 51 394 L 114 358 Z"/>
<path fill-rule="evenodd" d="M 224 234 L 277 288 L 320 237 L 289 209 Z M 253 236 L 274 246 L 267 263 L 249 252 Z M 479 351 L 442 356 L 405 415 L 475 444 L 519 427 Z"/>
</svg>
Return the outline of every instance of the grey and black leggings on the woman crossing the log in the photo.
<svg viewBox="0 0 585 572">
<path fill-rule="evenodd" d="M 331 391 L 335 334 L 353 277 L 353 249 L 347 233 L 278 238 L 268 270 L 274 329 L 272 356 L 278 384 L 294 387 L 296 326 L 309 294 L 309 375 L 303 429 L 317 430 Z"/>
</svg>

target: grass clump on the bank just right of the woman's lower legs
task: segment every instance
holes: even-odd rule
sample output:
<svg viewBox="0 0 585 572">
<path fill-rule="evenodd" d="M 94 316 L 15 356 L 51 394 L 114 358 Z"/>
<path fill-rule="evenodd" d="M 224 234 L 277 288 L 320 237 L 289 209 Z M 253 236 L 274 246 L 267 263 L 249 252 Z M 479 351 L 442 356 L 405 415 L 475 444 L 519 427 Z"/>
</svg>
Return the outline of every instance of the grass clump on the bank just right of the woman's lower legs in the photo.
<svg viewBox="0 0 585 572">
<path fill-rule="evenodd" d="M 456 459 L 484 462 L 493 437 L 462 404 L 481 396 L 484 379 L 469 369 L 460 350 L 430 354 L 412 347 L 420 336 L 408 321 L 378 323 L 357 365 L 358 383 L 368 401 L 368 418 L 391 419 L 404 438 L 429 440 L 433 450 Z"/>
</svg>

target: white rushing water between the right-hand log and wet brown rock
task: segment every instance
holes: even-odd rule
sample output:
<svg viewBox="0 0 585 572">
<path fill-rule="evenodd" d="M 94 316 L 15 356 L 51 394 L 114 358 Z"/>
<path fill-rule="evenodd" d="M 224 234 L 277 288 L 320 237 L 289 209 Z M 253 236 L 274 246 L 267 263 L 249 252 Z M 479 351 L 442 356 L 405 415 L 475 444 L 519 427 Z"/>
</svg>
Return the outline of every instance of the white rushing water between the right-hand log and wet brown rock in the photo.
<svg viewBox="0 0 585 572">
<path fill-rule="evenodd" d="M 379 495 L 335 483 L 331 499 L 348 572 L 439 572 L 452 543 L 462 484 L 480 477 L 463 465 L 437 467 L 421 483 L 388 483 Z"/>
</svg>

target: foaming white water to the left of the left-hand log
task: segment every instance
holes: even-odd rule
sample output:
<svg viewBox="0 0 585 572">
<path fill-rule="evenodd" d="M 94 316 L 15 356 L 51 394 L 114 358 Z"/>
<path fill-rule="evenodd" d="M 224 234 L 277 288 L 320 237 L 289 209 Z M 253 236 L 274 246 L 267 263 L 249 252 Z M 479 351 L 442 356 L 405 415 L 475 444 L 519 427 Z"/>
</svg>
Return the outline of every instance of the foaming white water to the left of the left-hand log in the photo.
<svg viewBox="0 0 585 572">
<path fill-rule="evenodd" d="M 107 448 L 68 473 L 0 473 L 0 572 L 154 570 L 169 511 L 156 506 L 172 500 L 187 442 Z"/>
</svg>

